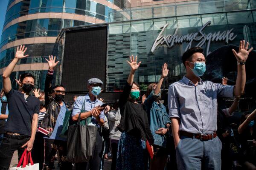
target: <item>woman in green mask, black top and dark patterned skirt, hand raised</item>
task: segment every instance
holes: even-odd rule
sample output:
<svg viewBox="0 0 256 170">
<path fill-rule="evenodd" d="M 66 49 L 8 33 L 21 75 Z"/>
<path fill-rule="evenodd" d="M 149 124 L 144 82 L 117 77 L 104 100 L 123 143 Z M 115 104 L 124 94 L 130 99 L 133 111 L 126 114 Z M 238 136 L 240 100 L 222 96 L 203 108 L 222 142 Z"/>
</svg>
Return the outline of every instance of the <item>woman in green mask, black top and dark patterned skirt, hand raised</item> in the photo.
<svg viewBox="0 0 256 170">
<path fill-rule="evenodd" d="M 119 99 L 122 118 L 118 129 L 122 134 L 119 140 L 116 170 L 147 170 L 146 140 L 153 150 L 154 138 L 148 116 L 144 106 L 137 102 L 140 97 L 140 86 L 134 82 L 134 74 L 140 63 L 137 63 L 137 56 L 135 59 L 133 56 L 130 57 L 128 64 L 131 71 Z"/>
</svg>

